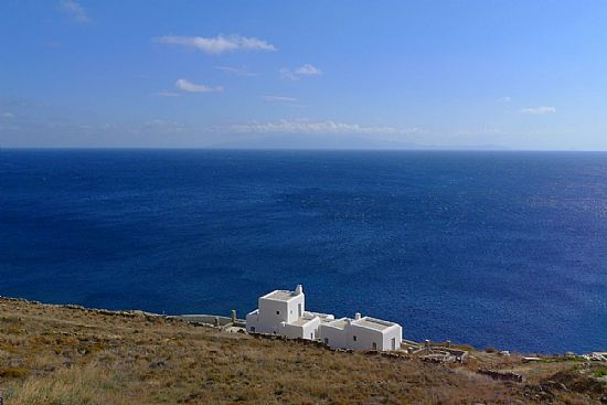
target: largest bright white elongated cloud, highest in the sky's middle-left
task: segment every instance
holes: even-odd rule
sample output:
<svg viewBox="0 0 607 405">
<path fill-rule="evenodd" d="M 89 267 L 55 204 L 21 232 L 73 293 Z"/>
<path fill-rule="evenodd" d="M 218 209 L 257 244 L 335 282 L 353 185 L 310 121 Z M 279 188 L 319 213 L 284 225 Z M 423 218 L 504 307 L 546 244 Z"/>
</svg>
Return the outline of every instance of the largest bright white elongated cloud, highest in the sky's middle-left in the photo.
<svg viewBox="0 0 607 405">
<path fill-rule="evenodd" d="M 220 54 L 231 51 L 276 51 L 273 44 L 256 38 L 241 35 L 217 35 L 215 38 L 204 36 L 175 36 L 164 35 L 156 40 L 162 44 L 194 47 L 204 53 Z"/>
</svg>

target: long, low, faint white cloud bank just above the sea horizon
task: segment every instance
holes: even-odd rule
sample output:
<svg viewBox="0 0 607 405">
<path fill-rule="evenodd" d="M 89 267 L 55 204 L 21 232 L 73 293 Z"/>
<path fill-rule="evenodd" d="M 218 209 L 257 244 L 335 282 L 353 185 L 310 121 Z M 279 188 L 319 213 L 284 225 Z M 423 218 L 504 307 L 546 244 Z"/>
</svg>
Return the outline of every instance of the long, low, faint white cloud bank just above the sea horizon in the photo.
<svg viewBox="0 0 607 405">
<path fill-rule="evenodd" d="M 247 122 L 230 126 L 237 134 L 419 134 L 418 128 L 368 127 L 359 124 L 310 120 L 280 120 L 274 122 Z"/>
</svg>

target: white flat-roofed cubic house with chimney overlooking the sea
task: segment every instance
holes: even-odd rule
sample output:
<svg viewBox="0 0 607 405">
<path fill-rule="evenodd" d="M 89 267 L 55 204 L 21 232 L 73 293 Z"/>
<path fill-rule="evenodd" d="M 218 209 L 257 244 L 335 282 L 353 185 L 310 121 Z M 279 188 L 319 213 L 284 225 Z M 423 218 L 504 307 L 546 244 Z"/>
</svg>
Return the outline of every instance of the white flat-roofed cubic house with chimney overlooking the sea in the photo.
<svg viewBox="0 0 607 405">
<path fill-rule="evenodd" d="M 295 291 L 275 290 L 259 297 L 259 308 L 246 316 L 246 330 L 317 340 L 333 349 L 396 350 L 403 340 L 398 323 L 360 313 L 354 319 L 336 319 L 332 315 L 306 311 L 301 285 Z"/>
</svg>

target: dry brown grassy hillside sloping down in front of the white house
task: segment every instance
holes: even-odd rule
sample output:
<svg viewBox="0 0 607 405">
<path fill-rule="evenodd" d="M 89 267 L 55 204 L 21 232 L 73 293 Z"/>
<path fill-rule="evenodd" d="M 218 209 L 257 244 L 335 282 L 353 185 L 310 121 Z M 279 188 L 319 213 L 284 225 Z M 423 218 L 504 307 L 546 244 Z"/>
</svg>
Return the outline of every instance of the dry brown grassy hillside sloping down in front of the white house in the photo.
<svg viewBox="0 0 607 405">
<path fill-rule="evenodd" d="M 472 354 L 465 366 L 427 364 L 142 313 L 0 299 L 0 390 L 7 405 L 593 404 L 605 388 L 595 379 L 598 385 L 586 391 L 590 376 L 574 370 L 578 363 L 534 365 L 518 356 Z M 497 382 L 476 373 L 478 367 L 515 370 L 528 382 Z M 563 388 L 566 373 L 577 373 L 577 392 Z"/>
</svg>

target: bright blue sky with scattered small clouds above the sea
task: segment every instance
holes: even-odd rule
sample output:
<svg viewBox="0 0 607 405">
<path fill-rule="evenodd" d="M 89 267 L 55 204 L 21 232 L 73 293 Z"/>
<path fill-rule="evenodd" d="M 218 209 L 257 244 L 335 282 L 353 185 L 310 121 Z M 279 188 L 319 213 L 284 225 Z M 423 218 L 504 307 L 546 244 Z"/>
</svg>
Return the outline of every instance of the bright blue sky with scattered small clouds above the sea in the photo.
<svg viewBox="0 0 607 405">
<path fill-rule="evenodd" d="M 607 1 L 0 1 L 0 148 L 607 150 Z"/>
</svg>

